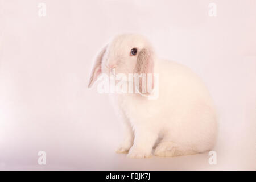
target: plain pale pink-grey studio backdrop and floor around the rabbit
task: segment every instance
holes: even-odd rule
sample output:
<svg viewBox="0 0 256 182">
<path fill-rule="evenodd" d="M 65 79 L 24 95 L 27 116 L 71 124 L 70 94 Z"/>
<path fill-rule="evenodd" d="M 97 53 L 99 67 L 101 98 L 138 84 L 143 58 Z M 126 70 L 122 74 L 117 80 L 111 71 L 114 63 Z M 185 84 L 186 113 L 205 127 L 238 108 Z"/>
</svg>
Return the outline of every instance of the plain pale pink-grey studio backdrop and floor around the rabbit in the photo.
<svg viewBox="0 0 256 182">
<path fill-rule="evenodd" d="M 115 154 L 119 121 L 108 96 L 86 86 L 96 52 L 123 32 L 147 36 L 160 57 L 204 80 L 220 114 L 216 165 L 208 153 Z M 255 82 L 255 0 L 1 0 L 0 169 L 255 170 Z"/>
</svg>

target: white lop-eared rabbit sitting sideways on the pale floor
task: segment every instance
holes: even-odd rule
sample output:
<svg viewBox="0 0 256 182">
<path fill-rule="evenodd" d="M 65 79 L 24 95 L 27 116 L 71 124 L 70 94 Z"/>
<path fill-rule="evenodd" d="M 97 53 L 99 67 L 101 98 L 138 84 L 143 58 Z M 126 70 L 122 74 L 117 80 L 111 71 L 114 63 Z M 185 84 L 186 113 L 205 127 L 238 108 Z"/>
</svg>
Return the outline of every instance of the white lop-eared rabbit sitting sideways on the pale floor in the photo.
<svg viewBox="0 0 256 182">
<path fill-rule="evenodd" d="M 159 95 L 110 94 L 123 118 L 124 139 L 117 152 L 130 158 L 192 155 L 210 150 L 216 141 L 217 115 L 203 82 L 189 68 L 160 60 L 141 35 L 115 37 L 98 53 L 88 87 L 101 73 L 153 73 L 159 75 Z M 141 86 L 141 85 L 140 85 Z M 141 91 L 141 88 L 140 88 Z M 156 141 L 159 141 L 156 142 Z"/>
</svg>

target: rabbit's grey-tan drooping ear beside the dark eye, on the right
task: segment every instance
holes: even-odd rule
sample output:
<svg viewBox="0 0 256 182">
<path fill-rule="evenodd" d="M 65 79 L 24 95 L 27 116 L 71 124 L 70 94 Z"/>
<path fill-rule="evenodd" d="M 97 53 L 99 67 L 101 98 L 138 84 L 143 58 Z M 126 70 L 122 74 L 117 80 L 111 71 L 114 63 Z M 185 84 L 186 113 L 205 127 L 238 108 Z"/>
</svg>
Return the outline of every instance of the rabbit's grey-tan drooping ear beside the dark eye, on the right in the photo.
<svg viewBox="0 0 256 182">
<path fill-rule="evenodd" d="M 154 56 L 151 48 L 143 48 L 139 52 L 135 73 L 146 74 L 146 82 L 142 84 L 142 78 L 140 79 L 139 92 L 143 93 L 143 90 L 146 90 L 146 94 L 150 94 L 154 89 Z"/>
</svg>

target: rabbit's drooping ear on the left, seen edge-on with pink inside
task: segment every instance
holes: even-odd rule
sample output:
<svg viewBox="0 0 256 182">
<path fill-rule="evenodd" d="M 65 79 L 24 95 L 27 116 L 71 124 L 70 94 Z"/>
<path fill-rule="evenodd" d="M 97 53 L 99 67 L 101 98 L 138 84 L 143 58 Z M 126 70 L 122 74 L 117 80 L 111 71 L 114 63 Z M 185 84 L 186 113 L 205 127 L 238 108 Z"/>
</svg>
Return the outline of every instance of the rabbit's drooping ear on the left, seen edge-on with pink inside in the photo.
<svg viewBox="0 0 256 182">
<path fill-rule="evenodd" d="M 102 73 L 102 69 L 101 69 L 102 59 L 107 48 L 108 48 L 108 45 L 104 46 L 101 49 L 101 51 L 97 54 L 96 59 L 94 60 L 92 72 L 90 73 L 88 88 L 90 88 L 93 85 L 93 83 L 97 80 L 98 75 Z"/>
</svg>

